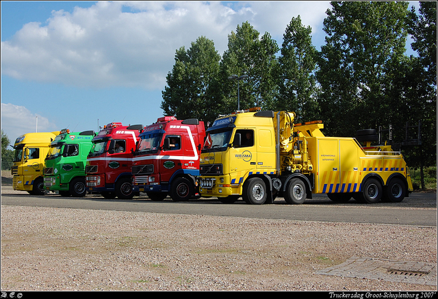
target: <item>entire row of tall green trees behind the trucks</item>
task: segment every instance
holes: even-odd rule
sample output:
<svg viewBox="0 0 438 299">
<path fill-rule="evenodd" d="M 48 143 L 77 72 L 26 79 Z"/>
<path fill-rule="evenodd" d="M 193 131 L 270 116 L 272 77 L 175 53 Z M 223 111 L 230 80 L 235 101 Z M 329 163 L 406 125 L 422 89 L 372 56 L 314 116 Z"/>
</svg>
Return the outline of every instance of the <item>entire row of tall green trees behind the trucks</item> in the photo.
<svg viewBox="0 0 438 299">
<path fill-rule="evenodd" d="M 329 136 L 392 125 L 394 142 L 402 142 L 407 125 L 421 122 L 422 145 L 402 148 L 403 155 L 411 167 L 436 165 L 437 3 L 420 2 L 419 14 L 404 1 L 331 5 L 320 52 L 300 16 L 285 28 L 281 48 L 248 21 L 231 31 L 222 57 L 205 37 L 181 47 L 163 91 L 165 114 L 213 121 L 237 109 L 239 90 L 240 109 L 294 111 L 297 122 L 322 120 Z M 418 57 L 405 55 L 408 34 Z"/>
</svg>

